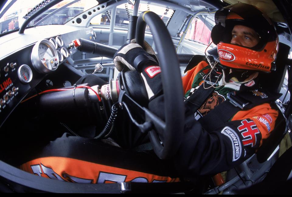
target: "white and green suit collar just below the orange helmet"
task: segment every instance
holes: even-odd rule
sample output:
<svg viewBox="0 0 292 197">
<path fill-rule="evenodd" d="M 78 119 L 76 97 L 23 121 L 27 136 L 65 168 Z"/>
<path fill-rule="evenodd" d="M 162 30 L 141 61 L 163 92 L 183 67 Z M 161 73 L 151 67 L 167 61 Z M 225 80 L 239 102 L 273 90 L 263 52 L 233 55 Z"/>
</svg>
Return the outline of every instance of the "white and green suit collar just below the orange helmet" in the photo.
<svg viewBox="0 0 292 197">
<path fill-rule="evenodd" d="M 232 77 L 229 81 L 226 81 L 226 70 L 222 70 L 222 78 L 221 80 L 218 82 L 218 85 L 224 85 L 224 87 L 226 88 L 230 88 L 232 90 L 235 91 L 239 91 L 239 90 L 245 90 L 245 89 L 249 89 L 249 88 L 254 88 L 255 86 L 257 86 L 257 82 L 258 80 L 256 79 L 257 76 L 259 75 L 258 72 L 252 73 L 248 78 L 246 78 L 246 80 L 239 82 L 238 79 L 236 77 Z"/>
</svg>

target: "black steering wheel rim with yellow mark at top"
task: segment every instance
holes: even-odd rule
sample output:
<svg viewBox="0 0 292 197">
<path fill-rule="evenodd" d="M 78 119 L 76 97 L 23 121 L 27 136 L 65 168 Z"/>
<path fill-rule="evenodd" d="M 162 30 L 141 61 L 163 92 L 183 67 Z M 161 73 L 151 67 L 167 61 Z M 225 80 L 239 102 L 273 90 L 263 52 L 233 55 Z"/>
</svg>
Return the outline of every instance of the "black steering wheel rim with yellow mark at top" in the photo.
<svg viewBox="0 0 292 197">
<path fill-rule="evenodd" d="M 156 132 L 149 132 L 154 141 L 153 148 L 161 159 L 176 154 L 182 141 L 184 126 L 184 104 L 179 61 L 171 36 L 160 17 L 154 12 L 142 12 L 137 21 L 136 42 L 143 46 L 146 24 L 149 25 L 157 46 L 158 59 L 162 70 L 162 86 L 165 100 L 165 123 L 163 145 Z"/>
</svg>

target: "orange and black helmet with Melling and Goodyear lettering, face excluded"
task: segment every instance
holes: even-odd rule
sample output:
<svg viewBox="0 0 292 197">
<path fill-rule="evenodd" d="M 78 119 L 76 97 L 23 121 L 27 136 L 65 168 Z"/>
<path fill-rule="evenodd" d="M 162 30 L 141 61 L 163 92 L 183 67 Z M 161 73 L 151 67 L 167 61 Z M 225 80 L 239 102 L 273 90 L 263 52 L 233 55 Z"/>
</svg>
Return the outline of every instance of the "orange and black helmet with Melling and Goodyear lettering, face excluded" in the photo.
<svg viewBox="0 0 292 197">
<path fill-rule="evenodd" d="M 218 10 L 215 13 L 215 22 L 211 38 L 217 45 L 222 65 L 264 72 L 276 70 L 273 62 L 279 39 L 273 22 L 266 14 L 253 5 L 237 3 Z M 231 32 L 235 25 L 254 29 L 259 36 L 259 43 L 252 48 L 231 44 Z"/>
</svg>

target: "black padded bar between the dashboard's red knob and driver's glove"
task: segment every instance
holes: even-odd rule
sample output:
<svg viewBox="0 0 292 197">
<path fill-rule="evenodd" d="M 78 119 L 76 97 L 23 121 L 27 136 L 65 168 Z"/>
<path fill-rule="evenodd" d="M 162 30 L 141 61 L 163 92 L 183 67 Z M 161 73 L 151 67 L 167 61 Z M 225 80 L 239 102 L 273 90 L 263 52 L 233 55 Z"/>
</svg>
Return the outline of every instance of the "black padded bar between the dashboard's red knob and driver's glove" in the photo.
<svg viewBox="0 0 292 197">
<path fill-rule="evenodd" d="M 114 47 L 100 44 L 97 42 L 92 42 L 90 40 L 86 40 L 83 38 L 79 38 L 79 41 L 80 41 L 80 46 L 78 47 L 79 51 L 92 53 L 107 58 L 113 58 L 114 54 L 118 50 Z"/>
</svg>

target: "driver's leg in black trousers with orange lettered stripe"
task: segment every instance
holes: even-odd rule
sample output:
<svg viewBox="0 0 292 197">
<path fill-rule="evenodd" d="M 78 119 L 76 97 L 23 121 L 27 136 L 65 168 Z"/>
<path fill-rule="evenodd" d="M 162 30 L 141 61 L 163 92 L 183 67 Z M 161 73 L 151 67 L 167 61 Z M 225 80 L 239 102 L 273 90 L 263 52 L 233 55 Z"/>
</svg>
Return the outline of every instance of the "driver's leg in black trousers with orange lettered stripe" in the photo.
<svg viewBox="0 0 292 197">
<path fill-rule="evenodd" d="M 167 161 L 153 151 L 130 151 L 106 141 L 64 133 L 20 168 L 60 181 L 77 183 L 178 182 Z M 172 177 L 172 178 L 171 178 Z"/>
</svg>

